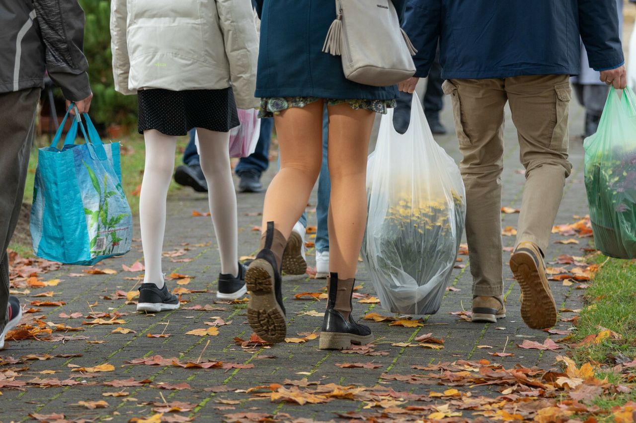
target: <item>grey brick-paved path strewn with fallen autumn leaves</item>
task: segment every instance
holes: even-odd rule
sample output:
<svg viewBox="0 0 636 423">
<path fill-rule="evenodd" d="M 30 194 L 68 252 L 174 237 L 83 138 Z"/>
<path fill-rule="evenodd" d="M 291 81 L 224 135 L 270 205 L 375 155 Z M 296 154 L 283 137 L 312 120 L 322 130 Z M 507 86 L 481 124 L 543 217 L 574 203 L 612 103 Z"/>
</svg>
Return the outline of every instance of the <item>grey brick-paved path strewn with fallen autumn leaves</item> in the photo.
<svg viewBox="0 0 636 423">
<path fill-rule="evenodd" d="M 452 116 L 450 107 L 446 107 L 443 121 L 452 128 Z M 581 132 L 582 111 L 572 102 L 572 135 Z M 456 145 L 454 132 L 452 135 L 438 138 L 439 143 L 456 159 L 459 152 Z M 518 171 L 522 167 L 518 163 L 518 145 L 516 133 L 511 119 L 506 120 L 506 152 L 505 171 L 503 177 L 504 198 L 503 204 L 512 208 L 521 204 L 523 175 Z M 583 147 L 578 137 L 572 137 L 571 161 L 574 164 L 572 176 L 567 182 L 565 197 L 561 207 L 557 224 L 572 222 L 573 215 L 586 214 L 586 198 L 583 185 Z M 274 166 L 275 167 L 275 166 Z M 125 170 L 124 170 L 125 172 Z M 272 177 L 273 171 L 266 174 L 264 180 Z M 312 198 L 315 207 L 315 198 Z M 258 247 L 258 232 L 252 231 L 252 227 L 260 224 L 260 217 L 254 212 L 261 210 L 263 194 L 239 194 L 239 249 L 241 255 L 251 255 Z M 172 196 L 169 204 L 169 223 L 165 241 L 165 252 L 170 252 L 164 260 L 164 269 L 191 276 L 188 285 L 178 285 L 184 289 L 196 291 L 184 293 L 183 299 L 189 300 L 182 309 L 173 312 L 163 312 L 156 316 L 144 316 L 136 314 L 134 305 L 126 305 L 126 298 L 118 297 L 117 291 L 128 292 L 133 290 L 136 281 L 126 279 L 134 278 L 139 273 L 125 272 L 121 265 L 132 265 L 140 259 L 141 243 L 135 242 L 132 252 L 126 257 L 109 260 L 100 269 L 115 269 L 116 274 L 96 274 L 83 277 L 71 277 L 71 273 L 81 273 L 83 267 L 62 267 L 59 271 L 51 272 L 43 276 L 43 280 L 54 278 L 62 279 L 59 285 L 48 288 L 32 288 L 30 295 L 21 295 L 22 302 L 28 304 L 31 300 L 55 300 L 64 301 L 62 307 L 41 307 L 41 311 L 34 314 L 46 314 L 44 321 L 64 323 L 68 326 L 82 326 L 82 321 L 87 318 L 63 319 L 60 312 L 71 314 L 81 312 L 83 316 L 88 314 L 89 306 L 94 312 L 108 312 L 111 315 L 121 312 L 125 315 L 119 319 L 125 323 L 114 326 L 95 325 L 83 326 L 83 332 L 67 332 L 69 339 L 66 342 L 44 342 L 41 340 L 22 340 L 20 342 L 8 342 L 8 349 L 0 352 L 0 356 L 7 358 L 12 356 L 18 363 L 0 359 L 0 372 L 11 375 L 9 369 L 21 373 L 16 380 L 27 382 L 25 386 L 13 388 L 4 386 L 0 373 L 0 420 L 2 422 L 28 420 L 29 413 L 63 413 L 66 419 L 112 420 L 128 421 L 132 417 L 148 418 L 153 414 L 150 403 L 172 403 L 183 401 L 190 405 L 181 405 L 181 412 L 165 413 L 163 419 L 177 419 L 179 417 L 191 417 L 198 421 L 221 421 L 238 418 L 235 413 L 265 413 L 275 415 L 273 418 L 282 420 L 311 419 L 331 420 L 338 419 L 336 413 L 363 412 L 379 413 L 382 408 L 365 409 L 370 400 L 346 400 L 336 399 L 326 404 L 296 405 L 289 402 L 270 401 L 269 398 L 261 398 L 258 393 L 269 392 L 269 389 L 247 393 L 254 386 L 270 384 L 283 384 L 286 379 L 319 382 L 321 386 L 329 383 L 341 386 L 359 385 L 371 389 L 372 387 L 391 388 L 401 393 L 411 393 L 415 396 L 423 394 L 428 396 L 431 391 L 442 393 L 447 387 L 436 386 L 434 379 L 410 377 L 410 375 L 422 375 L 424 370 L 418 370 L 412 366 L 426 366 L 440 361 L 456 361 L 488 359 L 502 363 L 506 368 L 513 368 L 516 363 L 523 366 L 539 366 L 550 368 L 555 363 L 558 351 L 537 351 L 534 349 L 520 349 L 517 347 L 523 340 L 536 340 L 543 342 L 550 336 L 558 339 L 559 335 L 549 335 L 546 332 L 529 330 L 519 314 L 520 290 L 513 281 L 511 272 L 506 267 L 506 294 L 508 298 L 508 318 L 497 324 L 476 324 L 463 321 L 460 316 L 452 312 L 469 310 L 471 307 L 471 277 L 469 269 L 457 269 L 454 273 L 452 286 L 457 290 L 449 291 L 443 300 L 438 314 L 424 318 L 424 326 L 407 328 L 403 326 L 389 326 L 389 322 L 369 324 L 377 337 L 375 350 L 385 351 L 385 355 L 365 356 L 361 354 L 345 354 L 343 352 L 320 351 L 318 340 L 308 340 L 304 344 L 283 343 L 272 347 L 242 347 L 235 343 L 234 338 L 248 339 L 251 330 L 247 326 L 245 317 L 245 304 L 214 304 L 213 292 L 216 290 L 216 277 L 219 272 L 218 253 L 212 238 L 212 225 L 209 218 L 194 217 L 193 210 L 207 211 L 205 196 L 195 194 L 187 189 L 179 191 Z M 310 213 L 310 225 L 315 225 L 315 214 Z M 516 226 L 517 214 L 502 215 L 504 225 Z M 139 233 L 138 229 L 135 232 Z M 137 235 L 138 236 L 138 235 Z M 575 237 L 576 238 L 576 237 Z M 514 237 L 504 236 L 506 246 L 512 246 Z M 555 235 L 556 239 L 565 239 Z M 312 239 L 307 239 L 311 241 Z M 560 254 L 574 256 L 583 255 L 581 248 L 586 246 L 588 238 L 579 239 L 578 245 L 552 244 L 548 252 L 548 260 Z M 183 251 L 181 251 L 183 250 Z M 183 253 L 183 254 L 181 254 Z M 462 264 L 469 265 L 466 255 Z M 509 253 L 504 253 L 507 261 Z M 181 261 L 187 258 L 189 261 Z M 172 260 L 172 261 L 171 261 Z M 308 255 L 308 262 L 314 265 L 312 252 Z M 359 293 L 373 294 L 370 278 L 364 266 L 359 271 L 359 285 L 363 287 Z M 567 285 L 567 284 L 566 284 Z M 170 288 L 176 288 L 175 281 L 169 282 Z M 325 307 L 325 300 L 296 300 L 294 295 L 302 292 L 322 292 L 325 286 L 324 280 L 310 279 L 307 276 L 284 277 L 284 296 L 286 297 L 287 318 L 289 321 L 288 336 L 302 337 L 297 333 L 318 332 L 321 326 L 321 317 L 312 314 L 321 313 Z M 553 292 L 558 306 L 565 309 L 579 309 L 581 307 L 582 290 L 576 290 L 577 284 L 565 286 L 560 281 L 553 282 Z M 52 299 L 34 298 L 37 293 L 53 290 Z M 104 297 L 109 299 L 104 299 Z M 187 309 L 193 305 L 211 305 L 211 311 Z M 363 316 L 366 312 L 378 312 L 392 316 L 387 311 L 382 311 L 376 304 L 354 304 L 356 316 Z M 33 316 L 33 314 L 30 314 Z M 562 316 L 574 316 L 572 312 L 562 312 Z M 197 328 L 211 328 L 204 322 L 223 319 L 229 325 L 218 326 L 218 335 L 199 337 L 186 335 L 189 330 Z M 368 322 L 368 321 L 366 321 Z M 123 327 L 134 332 L 111 333 L 116 327 Z M 556 326 L 560 329 L 569 328 L 568 322 L 560 322 Z M 63 332 L 54 332 L 61 334 Z M 148 337 L 148 334 L 169 333 L 169 337 Z M 413 342 L 418 335 L 432 333 L 435 338 L 445 340 L 442 349 L 426 349 L 420 346 L 394 346 L 392 344 L 417 344 Z M 73 337 L 88 337 L 75 339 Z M 207 348 L 206 348 L 207 346 Z M 480 348 L 491 346 L 492 348 Z M 506 352 L 515 354 L 508 357 L 494 357 L 488 352 Z M 205 350 L 205 351 L 204 351 Z M 20 357 L 27 354 L 81 354 L 81 356 L 64 358 L 53 357 L 45 360 L 20 361 Z M 149 365 L 125 365 L 126 361 L 135 358 L 150 358 L 160 354 L 163 358 L 177 357 L 181 361 L 200 362 L 218 360 L 224 363 L 237 363 L 231 368 L 181 368 L 177 366 L 149 366 Z M 377 368 L 339 368 L 336 363 L 369 363 L 373 362 Z M 109 363 L 114 366 L 111 372 L 83 373 L 73 372 L 76 366 L 92 367 Z M 54 374 L 40 374 L 45 370 L 55 370 Z M 383 373 L 398 375 L 395 378 L 383 379 Z M 399 376 L 402 375 L 402 376 Z M 46 386 L 55 382 L 30 382 L 34 378 L 58 379 L 60 381 L 73 378 L 81 383 L 76 386 Z M 137 381 L 149 379 L 151 383 L 141 386 L 113 387 L 105 386 L 104 382 L 121 379 L 134 379 Z M 302 382 L 299 382 L 300 384 Z M 174 387 L 177 384 L 187 384 L 185 389 L 159 389 Z M 10 384 L 9 384 L 10 385 Z M 66 384 L 63 384 L 66 385 Z M 172 386 L 170 386 L 172 385 Z M 4 387 L 3 387 L 4 386 Z M 178 386 L 177 386 L 178 387 Z M 293 386 L 287 385 L 293 390 Z M 314 386 L 315 387 L 315 386 Z M 458 387 L 462 394 L 471 392 L 473 396 L 487 395 L 492 398 L 501 395 L 501 387 L 481 386 L 468 389 Z M 104 396 L 104 393 L 125 392 L 121 396 Z M 399 397 L 399 395 L 396 395 Z M 359 399 L 359 397 L 356 397 Z M 386 397 L 389 399 L 389 397 Z M 403 396 L 399 398 L 406 398 Z M 450 394 L 448 398 L 453 398 Z M 397 401 L 396 405 L 422 406 L 423 410 L 432 405 L 443 405 L 448 398 L 431 398 L 430 400 L 416 401 L 406 398 L 407 401 Z M 78 401 L 106 401 L 106 408 L 89 409 L 83 405 L 75 405 Z M 395 400 L 395 398 L 394 398 Z M 394 405 L 394 406 L 396 406 Z M 384 406 L 391 406 L 385 403 Z M 166 407 L 169 408 L 169 407 Z M 190 408 L 190 410 L 188 410 Z M 417 408 L 415 408 L 417 409 Z M 388 409 L 389 412 L 391 408 Z M 163 410 L 167 411 L 167 410 Z M 432 413 L 428 408 L 422 411 L 426 416 Z M 443 408 L 442 408 L 443 412 Z M 224 417 L 225 415 L 230 415 Z M 377 416 L 380 414 L 376 414 Z M 239 416 L 240 417 L 240 416 Z M 247 417 L 260 418 L 258 414 Z M 411 417 L 411 416 L 410 416 Z M 470 410 L 464 410 L 464 417 L 476 417 Z M 155 419 L 158 419 L 156 417 Z M 388 420 L 391 418 L 387 417 Z M 158 421 L 158 420 L 153 420 Z"/>
</svg>

